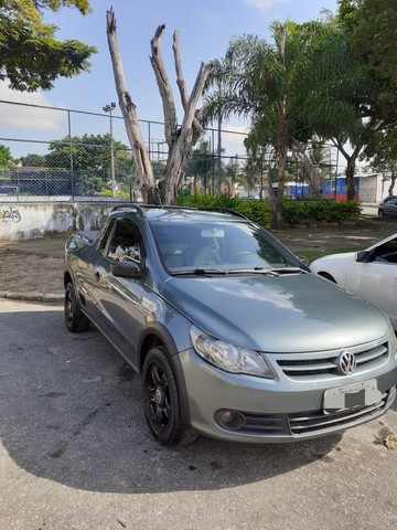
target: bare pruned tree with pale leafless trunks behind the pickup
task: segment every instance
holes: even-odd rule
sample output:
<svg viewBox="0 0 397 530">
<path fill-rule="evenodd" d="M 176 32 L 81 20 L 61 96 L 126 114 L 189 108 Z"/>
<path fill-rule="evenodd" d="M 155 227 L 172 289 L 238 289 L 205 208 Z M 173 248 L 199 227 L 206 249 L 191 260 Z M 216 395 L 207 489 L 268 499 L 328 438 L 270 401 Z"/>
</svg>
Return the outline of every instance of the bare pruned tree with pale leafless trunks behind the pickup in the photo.
<svg viewBox="0 0 397 530">
<path fill-rule="evenodd" d="M 132 156 L 136 162 L 137 173 L 141 183 L 142 198 L 148 204 L 159 203 L 159 197 L 155 188 L 153 169 L 150 161 L 148 149 L 144 145 L 137 115 L 137 107 L 127 91 L 125 80 L 121 53 L 117 44 L 116 17 L 112 9 L 106 13 L 107 38 L 115 75 L 116 91 L 119 106 L 126 124 L 128 140 L 131 146 Z M 161 195 L 164 204 L 175 204 L 178 190 L 181 186 L 184 169 L 192 148 L 200 138 L 203 127 L 201 110 L 196 109 L 200 97 L 203 94 L 204 85 L 212 68 L 212 63 L 202 63 L 192 89 L 189 96 L 186 85 L 182 74 L 180 42 L 178 31 L 173 34 L 173 55 L 176 73 L 176 84 L 179 87 L 183 119 L 182 125 L 178 125 L 176 109 L 172 87 L 167 74 L 162 53 L 161 40 L 165 25 L 159 25 L 153 39 L 151 40 L 150 62 L 154 71 L 157 84 L 162 98 L 164 113 L 165 141 L 168 144 L 168 160 L 164 170 L 164 178 L 161 181 Z"/>
</svg>

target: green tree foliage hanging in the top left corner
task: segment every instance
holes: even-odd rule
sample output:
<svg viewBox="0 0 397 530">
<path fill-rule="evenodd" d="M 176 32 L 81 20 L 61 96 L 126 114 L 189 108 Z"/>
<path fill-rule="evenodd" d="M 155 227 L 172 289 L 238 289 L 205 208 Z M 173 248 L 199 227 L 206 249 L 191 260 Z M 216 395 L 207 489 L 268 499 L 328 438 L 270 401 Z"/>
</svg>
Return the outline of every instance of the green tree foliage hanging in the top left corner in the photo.
<svg viewBox="0 0 397 530">
<path fill-rule="evenodd" d="M 19 91 L 50 89 L 57 77 L 89 70 L 96 49 L 75 40 L 57 41 L 45 10 L 75 7 L 85 15 L 88 0 L 0 0 L 0 80 Z"/>
</svg>

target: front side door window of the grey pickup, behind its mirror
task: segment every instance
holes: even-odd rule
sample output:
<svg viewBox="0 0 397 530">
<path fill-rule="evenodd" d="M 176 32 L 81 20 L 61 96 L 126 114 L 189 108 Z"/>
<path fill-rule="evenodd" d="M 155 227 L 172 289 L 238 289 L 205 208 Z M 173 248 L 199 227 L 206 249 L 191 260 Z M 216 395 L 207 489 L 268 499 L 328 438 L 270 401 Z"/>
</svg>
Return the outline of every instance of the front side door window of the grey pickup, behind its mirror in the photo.
<svg viewBox="0 0 397 530">
<path fill-rule="evenodd" d="M 107 251 L 114 262 L 132 261 L 141 264 L 141 242 L 138 229 L 128 221 L 117 221 Z"/>
</svg>

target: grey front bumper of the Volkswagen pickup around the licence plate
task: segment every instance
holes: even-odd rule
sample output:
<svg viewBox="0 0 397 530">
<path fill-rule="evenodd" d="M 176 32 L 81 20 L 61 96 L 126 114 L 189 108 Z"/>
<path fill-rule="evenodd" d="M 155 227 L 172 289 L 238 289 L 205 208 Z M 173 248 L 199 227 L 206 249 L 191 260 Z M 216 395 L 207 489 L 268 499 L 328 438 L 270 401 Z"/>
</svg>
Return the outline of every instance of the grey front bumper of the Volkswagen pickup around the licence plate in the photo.
<svg viewBox="0 0 397 530">
<path fill-rule="evenodd" d="M 180 354 L 187 389 L 192 426 L 214 438 L 281 443 L 337 433 L 382 416 L 396 398 L 397 363 L 386 363 L 365 374 L 297 382 L 277 373 L 273 380 L 223 372 L 205 362 L 193 349 Z M 323 411 L 325 390 L 376 379 L 378 403 Z M 237 421 L 222 421 L 223 413 Z"/>
</svg>

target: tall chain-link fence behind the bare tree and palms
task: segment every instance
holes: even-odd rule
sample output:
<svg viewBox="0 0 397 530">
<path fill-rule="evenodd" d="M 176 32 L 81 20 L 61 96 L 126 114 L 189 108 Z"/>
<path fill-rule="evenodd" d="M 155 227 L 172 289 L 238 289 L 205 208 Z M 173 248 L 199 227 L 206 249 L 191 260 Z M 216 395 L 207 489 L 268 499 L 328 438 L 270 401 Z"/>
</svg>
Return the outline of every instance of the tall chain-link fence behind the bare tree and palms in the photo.
<svg viewBox="0 0 397 530">
<path fill-rule="evenodd" d="M 85 201 L 139 199 L 139 182 L 124 119 L 116 104 L 103 114 L 0 100 L 1 201 Z M 140 120 L 157 178 L 168 158 L 164 125 Z M 266 198 L 270 174 L 277 187 L 277 156 L 248 157 L 247 134 L 207 128 L 193 149 L 183 186 L 190 191 Z M 324 147 L 318 163 L 322 182 L 335 178 L 335 151 Z M 308 194 L 304 167 L 289 156 L 286 194 Z"/>
</svg>

